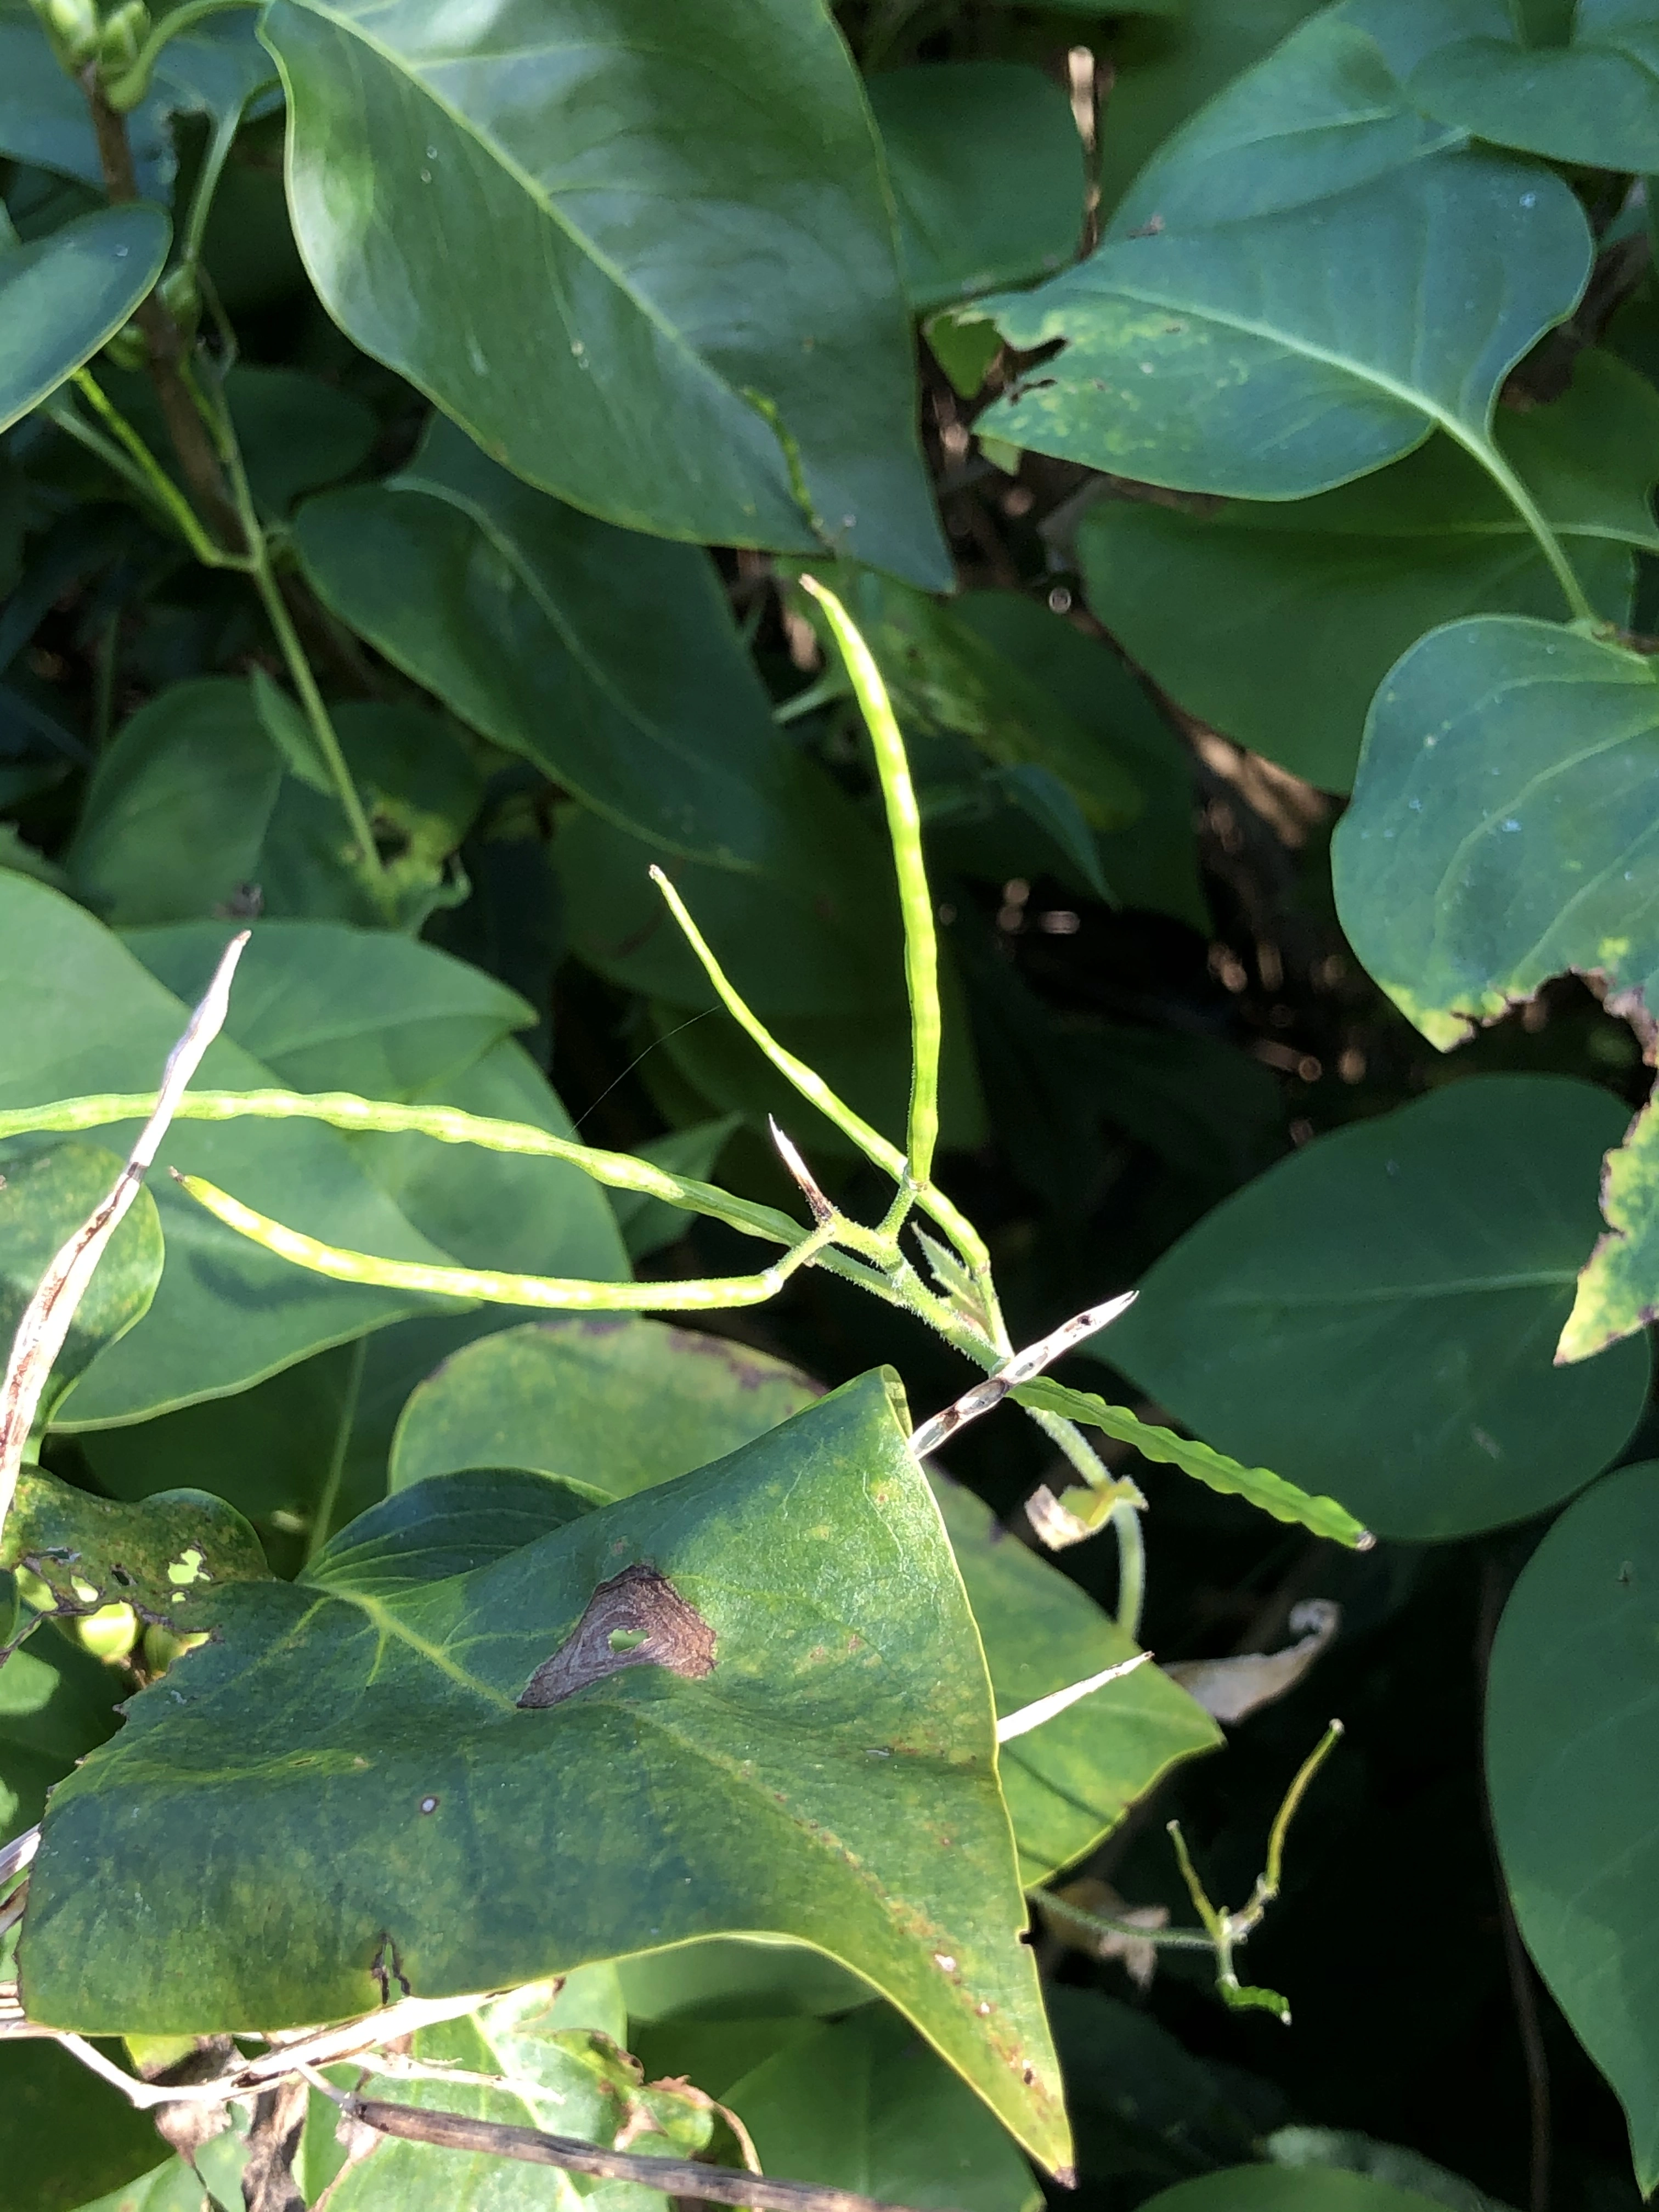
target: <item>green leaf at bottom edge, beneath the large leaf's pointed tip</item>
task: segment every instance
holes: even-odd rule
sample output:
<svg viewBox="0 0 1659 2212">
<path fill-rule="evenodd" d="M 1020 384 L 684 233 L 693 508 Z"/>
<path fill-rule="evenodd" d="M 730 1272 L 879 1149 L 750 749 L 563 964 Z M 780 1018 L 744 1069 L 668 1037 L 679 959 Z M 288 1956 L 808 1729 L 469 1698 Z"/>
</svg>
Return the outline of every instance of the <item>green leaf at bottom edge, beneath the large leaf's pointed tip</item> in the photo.
<svg viewBox="0 0 1659 2212">
<path fill-rule="evenodd" d="M 639 2055 L 737 2112 L 768 2174 L 918 2212 L 1042 2203 L 991 2115 L 887 2006 L 836 2022 L 684 2022 L 646 2035 Z"/>
</svg>

